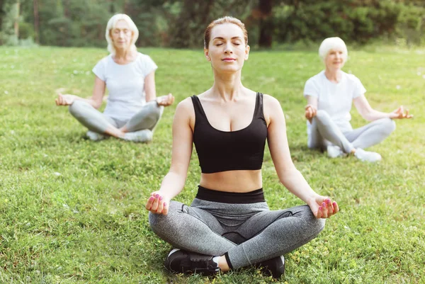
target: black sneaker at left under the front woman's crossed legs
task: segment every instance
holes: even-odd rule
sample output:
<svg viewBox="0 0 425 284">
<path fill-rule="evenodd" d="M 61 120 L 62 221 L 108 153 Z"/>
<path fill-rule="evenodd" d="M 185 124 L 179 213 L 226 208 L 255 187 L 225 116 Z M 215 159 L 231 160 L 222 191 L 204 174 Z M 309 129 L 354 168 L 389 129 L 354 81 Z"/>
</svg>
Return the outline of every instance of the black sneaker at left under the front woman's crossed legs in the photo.
<svg viewBox="0 0 425 284">
<path fill-rule="evenodd" d="M 210 276 L 220 271 L 218 264 L 212 260 L 213 258 L 214 256 L 173 249 L 166 257 L 164 265 L 171 273 L 199 273 Z"/>
</svg>

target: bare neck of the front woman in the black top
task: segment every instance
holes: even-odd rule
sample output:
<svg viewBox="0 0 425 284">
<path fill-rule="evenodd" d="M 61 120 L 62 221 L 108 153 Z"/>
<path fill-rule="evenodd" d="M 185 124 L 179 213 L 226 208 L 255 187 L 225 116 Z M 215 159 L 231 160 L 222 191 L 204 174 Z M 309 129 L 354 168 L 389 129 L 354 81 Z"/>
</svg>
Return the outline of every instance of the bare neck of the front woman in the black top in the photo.
<svg viewBox="0 0 425 284">
<path fill-rule="evenodd" d="M 241 71 L 231 74 L 219 74 L 214 71 L 214 84 L 211 91 L 222 98 L 223 101 L 234 101 L 244 91 L 241 81 Z"/>
</svg>

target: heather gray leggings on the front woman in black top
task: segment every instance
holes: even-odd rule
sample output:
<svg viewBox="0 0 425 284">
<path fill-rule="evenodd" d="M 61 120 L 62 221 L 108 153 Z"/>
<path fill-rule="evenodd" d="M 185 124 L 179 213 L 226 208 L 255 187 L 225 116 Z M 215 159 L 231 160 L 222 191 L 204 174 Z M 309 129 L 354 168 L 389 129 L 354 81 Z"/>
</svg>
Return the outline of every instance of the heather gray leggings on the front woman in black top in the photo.
<svg viewBox="0 0 425 284">
<path fill-rule="evenodd" d="M 240 268 L 273 259 L 310 242 L 324 228 L 310 207 L 269 210 L 266 202 L 229 204 L 195 198 L 171 201 L 168 215 L 149 212 L 152 230 L 172 246 L 210 256 L 227 253 Z"/>
</svg>

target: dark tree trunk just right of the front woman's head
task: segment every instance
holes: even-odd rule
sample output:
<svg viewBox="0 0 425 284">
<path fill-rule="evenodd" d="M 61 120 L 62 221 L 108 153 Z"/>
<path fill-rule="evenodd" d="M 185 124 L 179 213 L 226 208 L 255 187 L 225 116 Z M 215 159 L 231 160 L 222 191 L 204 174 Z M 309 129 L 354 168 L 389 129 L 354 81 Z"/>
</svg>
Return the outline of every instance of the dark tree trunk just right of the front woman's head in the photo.
<svg viewBox="0 0 425 284">
<path fill-rule="evenodd" d="M 273 34 L 273 18 L 271 18 L 271 10 L 273 8 L 273 0 L 260 0 L 259 1 L 259 12 L 260 12 L 260 36 L 259 46 L 270 48 L 272 43 Z"/>
</svg>

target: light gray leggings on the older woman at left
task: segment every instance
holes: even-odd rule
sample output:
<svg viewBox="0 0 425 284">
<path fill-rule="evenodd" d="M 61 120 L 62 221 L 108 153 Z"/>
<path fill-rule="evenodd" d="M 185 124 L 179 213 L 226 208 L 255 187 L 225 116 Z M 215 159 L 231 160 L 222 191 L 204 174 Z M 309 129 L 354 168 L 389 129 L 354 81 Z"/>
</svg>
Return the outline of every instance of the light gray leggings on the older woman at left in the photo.
<svg viewBox="0 0 425 284">
<path fill-rule="evenodd" d="M 74 101 L 69 106 L 69 113 L 77 118 L 79 123 L 89 128 L 89 130 L 103 134 L 108 127 L 121 128 L 127 126 L 128 132 L 137 130 L 154 130 L 159 119 L 161 118 L 164 106 L 158 106 L 156 101 L 146 103 L 142 109 L 130 118 L 130 120 L 117 120 L 104 115 L 96 110 L 86 101 Z"/>
</svg>

